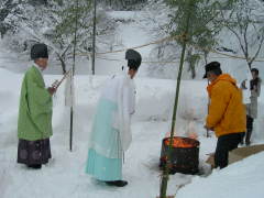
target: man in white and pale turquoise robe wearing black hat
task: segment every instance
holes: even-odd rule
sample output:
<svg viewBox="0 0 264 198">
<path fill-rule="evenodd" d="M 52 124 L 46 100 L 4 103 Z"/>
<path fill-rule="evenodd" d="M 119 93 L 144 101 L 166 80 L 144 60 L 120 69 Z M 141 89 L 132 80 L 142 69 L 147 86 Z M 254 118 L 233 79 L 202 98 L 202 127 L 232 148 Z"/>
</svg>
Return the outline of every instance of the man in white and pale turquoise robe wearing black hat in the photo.
<svg viewBox="0 0 264 198">
<path fill-rule="evenodd" d="M 131 116 L 135 108 L 133 78 L 141 55 L 128 50 L 128 73 L 114 76 L 101 92 L 89 140 L 86 173 L 110 186 L 123 187 L 122 157 L 132 141 Z"/>
</svg>

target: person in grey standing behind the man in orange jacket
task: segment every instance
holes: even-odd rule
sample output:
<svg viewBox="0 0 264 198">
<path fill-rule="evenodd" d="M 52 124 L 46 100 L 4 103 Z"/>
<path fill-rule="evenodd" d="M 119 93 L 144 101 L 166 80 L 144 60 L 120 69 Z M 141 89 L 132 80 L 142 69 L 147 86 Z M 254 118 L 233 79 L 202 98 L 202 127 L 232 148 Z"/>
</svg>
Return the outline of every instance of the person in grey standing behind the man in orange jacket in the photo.
<svg viewBox="0 0 264 198">
<path fill-rule="evenodd" d="M 251 135 L 253 131 L 254 119 L 257 118 L 257 98 L 261 95 L 261 84 L 262 79 L 258 77 L 258 69 L 251 69 L 252 79 L 250 80 L 250 103 L 246 103 L 246 133 L 245 133 L 245 144 L 251 144 Z M 245 80 L 241 85 L 242 89 L 246 89 Z M 243 144 L 244 141 L 242 141 Z"/>
</svg>

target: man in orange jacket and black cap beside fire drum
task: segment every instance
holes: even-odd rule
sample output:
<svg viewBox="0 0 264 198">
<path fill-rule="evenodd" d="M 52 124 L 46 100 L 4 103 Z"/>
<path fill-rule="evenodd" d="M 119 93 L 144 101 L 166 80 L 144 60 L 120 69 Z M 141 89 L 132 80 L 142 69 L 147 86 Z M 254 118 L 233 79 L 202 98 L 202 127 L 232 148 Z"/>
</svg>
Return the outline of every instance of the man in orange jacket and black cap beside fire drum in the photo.
<svg viewBox="0 0 264 198">
<path fill-rule="evenodd" d="M 210 105 L 206 128 L 215 131 L 218 138 L 215 164 L 223 168 L 228 166 L 228 153 L 238 147 L 245 132 L 245 106 L 235 79 L 222 74 L 220 63 L 207 64 L 204 78 L 210 81 L 207 87 Z"/>
</svg>

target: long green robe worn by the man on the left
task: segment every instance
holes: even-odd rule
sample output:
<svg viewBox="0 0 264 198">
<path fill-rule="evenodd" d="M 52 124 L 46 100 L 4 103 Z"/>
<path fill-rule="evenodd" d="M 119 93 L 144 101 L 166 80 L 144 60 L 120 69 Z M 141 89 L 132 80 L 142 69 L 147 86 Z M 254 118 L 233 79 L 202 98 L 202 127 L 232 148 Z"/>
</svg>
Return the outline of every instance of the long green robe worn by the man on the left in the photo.
<svg viewBox="0 0 264 198">
<path fill-rule="evenodd" d="M 18 136 L 26 141 L 52 135 L 52 96 L 45 88 L 41 72 L 32 66 L 25 73 L 19 109 Z"/>
</svg>

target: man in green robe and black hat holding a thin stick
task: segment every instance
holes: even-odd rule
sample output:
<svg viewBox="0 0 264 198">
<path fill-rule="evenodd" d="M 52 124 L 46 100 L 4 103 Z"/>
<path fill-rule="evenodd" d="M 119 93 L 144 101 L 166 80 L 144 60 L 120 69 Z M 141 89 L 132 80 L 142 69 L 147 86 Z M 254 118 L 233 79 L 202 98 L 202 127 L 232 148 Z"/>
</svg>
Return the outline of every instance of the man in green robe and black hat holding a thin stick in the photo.
<svg viewBox="0 0 264 198">
<path fill-rule="evenodd" d="M 41 168 L 42 164 L 46 164 L 52 157 L 52 96 L 56 89 L 45 88 L 42 76 L 42 72 L 47 67 L 47 46 L 33 45 L 31 58 L 34 64 L 25 73 L 20 96 L 18 163 Z"/>
</svg>

